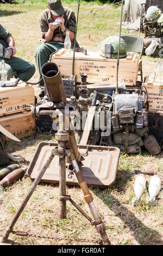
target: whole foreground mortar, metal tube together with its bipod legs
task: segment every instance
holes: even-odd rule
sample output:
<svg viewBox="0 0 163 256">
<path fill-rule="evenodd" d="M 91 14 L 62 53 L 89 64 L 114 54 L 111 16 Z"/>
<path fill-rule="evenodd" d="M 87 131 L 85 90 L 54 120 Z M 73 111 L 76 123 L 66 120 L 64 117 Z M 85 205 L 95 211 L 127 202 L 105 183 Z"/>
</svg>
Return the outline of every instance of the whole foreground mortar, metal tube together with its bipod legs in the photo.
<svg viewBox="0 0 163 256">
<path fill-rule="evenodd" d="M 42 159 L 42 166 L 40 168 L 40 172 L 37 173 L 37 176 L 32 187 L 30 188 L 30 191 L 28 192 L 26 198 L 24 198 L 20 208 L 16 212 L 14 219 L 11 221 L 10 225 L 2 235 L 1 243 L 11 243 L 8 240 L 10 233 L 19 235 L 22 234 L 22 232 L 16 233 L 13 230 L 14 225 L 17 222 L 18 217 L 21 215 L 26 204 L 28 203 L 28 200 L 32 196 L 36 186 L 39 184 L 43 174 L 46 173 L 46 170 L 54 160 L 54 157 L 58 156 L 60 218 L 66 218 L 66 200 L 70 200 L 70 202 L 74 206 L 76 206 L 76 208 L 87 218 L 87 220 L 89 220 L 92 225 L 95 225 L 97 232 L 102 237 L 103 245 L 110 245 L 108 235 L 106 234 L 105 225 L 96 210 L 96 206 L 93 203 L 92 194 L 87 187 L 83 172 L 79 166 L 81 155 L 79 153 L 76 140 L 74 138 L 74 131 L 70 130 L 70 126 L 66 124 L 66 120 L 70 118 L 70 113 L 73 114 L 76 109 L 73 105 L 70 105 L 66 102 L 66 95 L 64 91 L 64 85 L 61 80 L 59 66 L 56 63 L 46 63 L 42 66 L 41 71 L 50 102 L 39 105 L 37 107 L 32 106 L 32 113 L 33 116 L 49 114 L 52 116 L 53 120 L 58 117 L 58 132 L 55 133 L 55 139 L 58 141 L 58 147 L 53 147 L 51 150 L 49 150 L 46 159 Z M 101 150 L 102 148 L 99 147 L 100 153 L 102 153 Z M 87 154 L 87 151 L 85 151 L 85 154 Z M 85 214 L 85 212 L 76 203 L 74 203 L 70 196 L 67 196 L 66 194 L 66 162 L 71 164 L 71 168 L 76 174 L 78 183 L 82 188 L 85 201 L 89 205 L 94 221 L 87 214 Z M 53 170 L 55 172 L 55 168 Z"/>
</svg>

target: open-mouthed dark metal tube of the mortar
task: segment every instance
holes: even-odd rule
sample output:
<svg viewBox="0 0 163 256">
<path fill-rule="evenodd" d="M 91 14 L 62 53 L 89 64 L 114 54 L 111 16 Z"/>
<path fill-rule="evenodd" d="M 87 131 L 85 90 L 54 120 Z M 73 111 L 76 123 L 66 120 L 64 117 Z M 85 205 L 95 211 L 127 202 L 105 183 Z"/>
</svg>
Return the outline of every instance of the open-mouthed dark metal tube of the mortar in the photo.
<svg viewBox="0 0 163 256">
<path fill-rule="evenodd" d="M 66 103 L 64 84 L 62 83 L 58 64 L 54 62 L 44 64 L 41 73 L 50 101 Z"/>
</svg>

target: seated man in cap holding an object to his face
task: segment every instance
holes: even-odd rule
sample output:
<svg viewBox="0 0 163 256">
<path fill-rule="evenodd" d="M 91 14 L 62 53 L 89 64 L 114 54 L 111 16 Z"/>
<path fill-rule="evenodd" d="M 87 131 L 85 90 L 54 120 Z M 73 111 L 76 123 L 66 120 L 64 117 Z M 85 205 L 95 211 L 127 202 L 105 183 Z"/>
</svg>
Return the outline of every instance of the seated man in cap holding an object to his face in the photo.
<svg viewBox="0 0 163 256">
<path fill-rule="evenodd" d="M 74 45 L 74 34 L 76 31 L 76 17 L 72 9 L 62 7 L 60 0 L 48 0 L 47 10 L 43 11 L 39 17 L 42 40 L 41 44 L 36 47 L 35 58 L 36 65 L 39 69 L 40 79 L 41 68 L 47 63 L 49 56 L 64 48 L 66 32 L 69 31 L 71 45 Z M 79 47 L 76 42 L 76 47 Z M 40 83 L 40 88 L 44 87 L 44 82 Z"/>
</svg>

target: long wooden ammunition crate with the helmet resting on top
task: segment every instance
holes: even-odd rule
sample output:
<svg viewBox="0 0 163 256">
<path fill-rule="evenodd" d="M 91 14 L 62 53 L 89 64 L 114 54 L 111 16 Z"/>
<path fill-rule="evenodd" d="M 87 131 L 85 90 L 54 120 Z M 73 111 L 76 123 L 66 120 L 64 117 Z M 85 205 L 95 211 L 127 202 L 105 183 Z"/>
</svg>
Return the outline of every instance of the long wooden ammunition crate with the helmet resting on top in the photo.
<svg viewBox="0 0 163 256">
<path fill-rule="evenodd" d="M 72 54 L 72 53 L 71 53 Z M 60 66 L 62 76 L 72 75 L 72 56 L 67 57 L 65 53 L 61 56 L 52 56 L 52 62 Z M 128 53 L 127 58 L 120 59 L 119 75 L 120 83 L 126 86 L 135 86 L 139 70 L 139 55 Z M 74 74 L 77 82 L 81 82 L 80 74 L 87 74 L 88 83 L 116 83 L 117 59 L 106 59 L 98 52 L 75 53 Z"/>
</svg>

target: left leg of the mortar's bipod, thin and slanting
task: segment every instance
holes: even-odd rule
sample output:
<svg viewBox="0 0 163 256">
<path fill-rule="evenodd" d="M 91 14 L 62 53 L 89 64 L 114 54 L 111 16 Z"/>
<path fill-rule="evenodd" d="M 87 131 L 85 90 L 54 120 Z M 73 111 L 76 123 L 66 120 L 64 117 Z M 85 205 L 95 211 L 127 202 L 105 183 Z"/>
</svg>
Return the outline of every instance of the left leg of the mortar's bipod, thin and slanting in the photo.
<svg viewBox="0 0 163 256">
<path fill-rule="evenodd" d="M 43 165 L 43 167 L 41 168 L 40 173 L 37 175 L 35 181 L 33 182 L 33 185 L 30 188 L 27 196 L 24 198 L 20 208 L 17 210 L 13 220 L 11 221 L 10 225 L 5 230 L 4 234 L 2 235 L 2 238 L 0 240 L 0 245 L 4 245 L 5 243 L 8 243 L 8 244 L 13 244 L 14 243 L 13 241 L 8 240 L 9 234 L 13 233 L 12 229 L 13 229 L 15 223 L 17 222 L 17 220 L 20 217 L 22 211 L 26 207 L 30 197 L 32 196 L 33 192 L 35 191 L 36 186 L 39 184 L 43 174 L 46 172 L 46 169 L 48 168 L 49 164 L 52 162 L 55 155 L 57 155 L 57 150 L 53 149 L 51 155 L 48 157 L 46 163 Z"/>
</svg>

